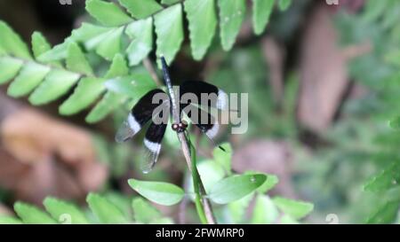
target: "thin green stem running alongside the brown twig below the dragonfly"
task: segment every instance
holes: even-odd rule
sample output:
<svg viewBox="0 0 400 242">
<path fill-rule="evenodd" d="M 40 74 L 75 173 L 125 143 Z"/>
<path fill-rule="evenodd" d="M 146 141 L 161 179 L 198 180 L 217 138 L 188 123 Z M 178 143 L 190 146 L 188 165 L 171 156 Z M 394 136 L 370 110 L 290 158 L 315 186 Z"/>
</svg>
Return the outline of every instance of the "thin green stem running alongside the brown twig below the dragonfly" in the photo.
<svg viewBox="0 0 400 242">
<path fill-rule="evenodd" d="M 202 204 L 202 195 L 200 193 L 200 175 L 198 174 L 198 170 L 196 167 L 196 149 L 195 146 L 190 142 L 190 139 L 188 137 L 188 144 L 190 146 L 190 158 L 192 161 L 192 178 L 193 178 L 193 186 L 195 188 L 195 193 L 196 193 L 196 198 L 195 198 L 195 204 L 196 204 L 196 211 L 197 215 L 200 218 L 200 221 L 203 224 L 207 224 L 207 218 L 204 213 L 204 206 Z"/>
</svg>

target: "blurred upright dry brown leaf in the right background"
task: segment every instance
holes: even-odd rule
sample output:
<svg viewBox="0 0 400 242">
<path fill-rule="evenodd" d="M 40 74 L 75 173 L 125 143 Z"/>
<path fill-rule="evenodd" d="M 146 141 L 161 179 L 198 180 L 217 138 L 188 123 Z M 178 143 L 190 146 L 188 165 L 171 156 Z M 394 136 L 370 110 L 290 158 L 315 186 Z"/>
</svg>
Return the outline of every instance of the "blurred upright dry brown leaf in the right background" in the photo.
<svg viewBox="0 0 400 242">
<path fill-rule="evenodd" d="M 308 20 L 300 54 L 298 118 L 320 133 L 328 128 L 348 87 L 346 59 L 338 46 L 329 7 L 320 4 Z"/>
</svg>

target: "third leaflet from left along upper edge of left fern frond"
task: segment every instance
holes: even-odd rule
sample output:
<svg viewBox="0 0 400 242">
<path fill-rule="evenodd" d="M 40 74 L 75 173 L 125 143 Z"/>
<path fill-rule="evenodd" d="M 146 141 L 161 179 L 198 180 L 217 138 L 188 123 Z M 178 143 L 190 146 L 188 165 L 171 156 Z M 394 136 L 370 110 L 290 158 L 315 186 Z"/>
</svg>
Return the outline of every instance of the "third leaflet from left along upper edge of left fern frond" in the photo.
<svg viewBox="0 0 400 242">
<path fill-rule="evenodd" d="M 76 43 L 69 43 L 67 54 L 67 68 L 73 72 L 92 75 L 92 67 L 84 57 L 84 53 Z"/>
</svg>

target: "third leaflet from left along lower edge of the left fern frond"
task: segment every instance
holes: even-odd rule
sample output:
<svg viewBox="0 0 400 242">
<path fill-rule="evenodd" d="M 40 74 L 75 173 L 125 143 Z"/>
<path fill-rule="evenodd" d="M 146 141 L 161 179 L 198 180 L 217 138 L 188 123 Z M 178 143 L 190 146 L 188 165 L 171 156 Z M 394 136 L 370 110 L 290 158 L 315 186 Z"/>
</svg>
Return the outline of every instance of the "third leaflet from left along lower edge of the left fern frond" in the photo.
<svg viewBox="0 0 400 242">
<path fill-rule="evenodd" d="M 53 69 L 29 96 L 33 105 L 44 105 L 60 98 L 78 81 L 79 74 Z"/>
</svg>

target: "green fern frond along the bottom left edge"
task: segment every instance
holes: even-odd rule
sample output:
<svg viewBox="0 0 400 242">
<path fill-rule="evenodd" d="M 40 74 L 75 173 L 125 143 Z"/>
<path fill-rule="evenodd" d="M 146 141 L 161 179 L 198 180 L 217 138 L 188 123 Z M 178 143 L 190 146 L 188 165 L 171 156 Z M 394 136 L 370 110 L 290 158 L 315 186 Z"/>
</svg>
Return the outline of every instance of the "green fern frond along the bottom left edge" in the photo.
<svg viewBox="0 0 400 242">
<path fill-rule="evenodd" d="M 164 217 L 156 207 L 143 199 L 132 199 L 132 203 L 128 203 L 125 208 L 121 203 L 124 197 L 118 198 L 111 195 L 90 193 L 86 199 L 90 211 L 76 207 L 66 200 L 52 197 L 44 199 L 45 211 L 17 202 L 14 209 L 19 218 L 0 215 L 0 224 L 172 223 L 171 219 Z"/>
</svg>

